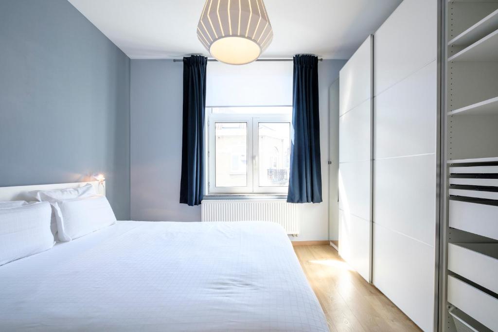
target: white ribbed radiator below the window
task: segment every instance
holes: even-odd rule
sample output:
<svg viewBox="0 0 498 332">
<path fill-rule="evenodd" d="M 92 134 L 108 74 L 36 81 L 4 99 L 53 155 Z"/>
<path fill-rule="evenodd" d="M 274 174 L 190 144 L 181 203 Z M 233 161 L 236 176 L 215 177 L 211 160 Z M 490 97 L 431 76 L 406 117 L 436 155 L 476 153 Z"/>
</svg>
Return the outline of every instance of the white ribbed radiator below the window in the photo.
<svg viewBox="0 0 498 332">
<path fill-rule="evenodd" d="M 284 200 L 204 200 L 202 221 L 273 221 L 298 235 L 301 208 Z"/>
</svg>

